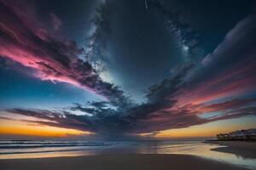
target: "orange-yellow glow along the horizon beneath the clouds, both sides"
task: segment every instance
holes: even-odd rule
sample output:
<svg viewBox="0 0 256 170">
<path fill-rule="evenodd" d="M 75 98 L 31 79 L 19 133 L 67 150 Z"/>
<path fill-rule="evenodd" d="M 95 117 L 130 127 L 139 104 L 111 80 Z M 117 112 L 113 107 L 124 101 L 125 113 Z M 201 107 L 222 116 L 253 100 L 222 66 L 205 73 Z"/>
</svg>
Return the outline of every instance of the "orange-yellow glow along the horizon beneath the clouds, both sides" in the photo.
<svg viewBox="0 0 256 170">
<path fill-rule="evenodd" d="M 217 133 L 229 133 L 231 131 L 255 127 L 256 117 L 247 116 L 239 119 L 209 122 L 206 124 L 168 129 L 157 133 L 133 134 L 140 137 L 150 137 L 155 139 L 193 139 L 215 137 Z M 0 119 L 1 135 L 24 135 L 49 138 L 62 138 L 69 136 L 87 136 L 94 133 L 64 127 L 50 127 L 39 124 L 27 124 L 22 121 Z"/>
</svg>

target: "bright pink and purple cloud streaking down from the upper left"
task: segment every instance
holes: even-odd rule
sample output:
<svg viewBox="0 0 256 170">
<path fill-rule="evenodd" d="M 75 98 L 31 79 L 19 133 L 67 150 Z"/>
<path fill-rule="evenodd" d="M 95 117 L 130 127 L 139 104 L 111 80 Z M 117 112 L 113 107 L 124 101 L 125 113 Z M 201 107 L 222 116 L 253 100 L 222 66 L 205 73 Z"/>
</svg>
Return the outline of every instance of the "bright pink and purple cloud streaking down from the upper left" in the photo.
<svg viewBox="0 0 256 170">
<path fill-rule="evenodd" d="M 118 87 L 103 82 L 88 61 L 79 59 L 84 55 L 84 49 L 76 42 L 55 39 L 44 27 L 36 24 L 30 13 L 25 14 L 28 10 L 22 11 L 15 3 L 2 1 L 0 8 L 3 16 L 0 20 L 1 57 L 32 68 L 32 74 L 41 80 L 67 82 L 113 102 L 125 98 Z M 51 16 L 57 20 L 54 14 Z"/>
</svg>

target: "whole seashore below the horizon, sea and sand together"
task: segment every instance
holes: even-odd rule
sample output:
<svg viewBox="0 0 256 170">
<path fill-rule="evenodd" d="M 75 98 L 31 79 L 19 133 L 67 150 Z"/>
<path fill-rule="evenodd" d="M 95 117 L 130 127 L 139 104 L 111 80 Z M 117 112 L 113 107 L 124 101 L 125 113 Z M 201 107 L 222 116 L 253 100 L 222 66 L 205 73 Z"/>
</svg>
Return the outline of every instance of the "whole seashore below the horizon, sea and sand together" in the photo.
<svg viewBox="0 0 256 170">
<path fill-rule="evenodd" d="M 251 142 L 5 140 L 0 146 L 1 170 L 256 168 Z"/>
</svg>

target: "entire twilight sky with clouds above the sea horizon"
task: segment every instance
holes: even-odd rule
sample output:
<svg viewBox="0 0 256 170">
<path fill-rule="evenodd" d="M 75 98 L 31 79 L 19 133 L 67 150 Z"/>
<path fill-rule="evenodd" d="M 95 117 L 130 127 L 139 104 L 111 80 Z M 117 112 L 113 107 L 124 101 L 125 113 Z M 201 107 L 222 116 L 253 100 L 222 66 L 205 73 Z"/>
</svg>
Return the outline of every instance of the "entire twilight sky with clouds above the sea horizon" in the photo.
<svg viewBox="0 0 256 170">
<path fill-rule="evenodd" d="M 254 0 L 0 0 L 0 138 L 256 127 Z"/>
</svg>

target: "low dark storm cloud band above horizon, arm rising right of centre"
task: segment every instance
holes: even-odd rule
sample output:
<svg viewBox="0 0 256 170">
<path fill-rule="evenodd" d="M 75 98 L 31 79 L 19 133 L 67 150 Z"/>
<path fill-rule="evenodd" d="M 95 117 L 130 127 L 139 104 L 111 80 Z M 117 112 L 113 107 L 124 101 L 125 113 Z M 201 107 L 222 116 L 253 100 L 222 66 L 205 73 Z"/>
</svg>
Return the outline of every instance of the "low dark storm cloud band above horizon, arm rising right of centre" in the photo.
<svg viewBox="0 0 256 170">
<path fill-rule="evenodd" d="M 186 87 L 184 78 L 191 70 L 189 65 L 176 77 L 166 79 L 154 88 L 148 90 L 148 102 L 129 107 L 110 105 L 108 102 L 92 102 L 87 105 L 73 105 L 70 111 L 82 111 L 90 115 L 77 116 L 71 112 L 54 113 L 52 111 L 11 110 L 16 114 L 34 116 L 54 122 L 36 122 L 57 127 L 69 127 L 89 130 L 94 133 L 151 133 L 155 131 L 189 127 L 206 122 L 236 118 L 241 116 L 255 116 L 254 107 L 250 106 L 255 99 L 233 99 L 204 105 L 185 105 L 173 107 L 179 90 Z M 201 114 L 211 111 L 224 111 L 220 116 L 201 117 Z M 46 113 L 46 114 L 45 114 Z M 56 114 L 55 116 L 53 116 Z M 70 126 L 69 126 L 70 123 Z"/>
</svg>

